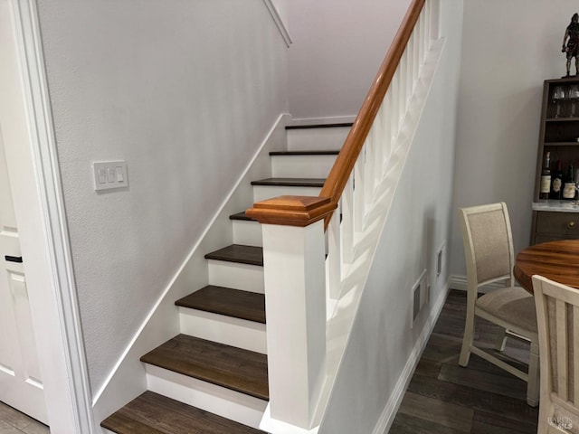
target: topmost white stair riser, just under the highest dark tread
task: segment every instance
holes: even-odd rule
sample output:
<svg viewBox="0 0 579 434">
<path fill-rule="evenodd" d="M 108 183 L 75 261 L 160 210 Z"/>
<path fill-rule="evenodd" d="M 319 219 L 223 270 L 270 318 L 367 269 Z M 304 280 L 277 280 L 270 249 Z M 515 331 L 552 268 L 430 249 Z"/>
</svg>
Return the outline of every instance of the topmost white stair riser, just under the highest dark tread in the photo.
<svg viewBox="0 0 579 434">
<path fill-rule="evenodd" d="M 350 127 L 298 128 L 288 130 L 289 151 L 341 149 Z"/>
</svg>

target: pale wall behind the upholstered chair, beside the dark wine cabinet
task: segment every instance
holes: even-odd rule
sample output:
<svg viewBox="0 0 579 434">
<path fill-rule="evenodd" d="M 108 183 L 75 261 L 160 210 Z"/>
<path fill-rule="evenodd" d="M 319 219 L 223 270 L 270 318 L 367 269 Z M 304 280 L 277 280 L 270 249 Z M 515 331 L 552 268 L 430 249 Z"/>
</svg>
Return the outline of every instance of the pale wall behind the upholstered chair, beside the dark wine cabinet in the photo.
<svg viewBox="0 0 579 434">
<path fill-rule="evenodd" d="M 571 0 L 465 0 L 451 273 L 464 277 L 456 209 L 504 201 L 528 246 L 543 81 L 565 75 Z M 574 71 L 574 70 L 573 70 Z"/>
</svg>

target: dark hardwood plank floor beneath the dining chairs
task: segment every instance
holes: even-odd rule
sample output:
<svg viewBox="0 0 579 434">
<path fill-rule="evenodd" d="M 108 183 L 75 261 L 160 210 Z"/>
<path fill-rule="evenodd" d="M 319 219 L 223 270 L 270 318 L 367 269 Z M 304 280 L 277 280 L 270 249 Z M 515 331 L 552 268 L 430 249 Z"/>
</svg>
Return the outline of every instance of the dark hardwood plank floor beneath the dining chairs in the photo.
<svg viewBox="0 0 579 434">
<path fill-rule="evenodd" d="M 459 366 L 465 306 L 466 292 L 451 290 L 389 434 L 536 433 L 538 407 L 527 405 L 526 382 L 474 354 Z M 496 331 L 478 318 L 475 340 L 490 349 Z M 501 356 L 526 364 L 528 345 L 509 339 Z"/>
</svg>

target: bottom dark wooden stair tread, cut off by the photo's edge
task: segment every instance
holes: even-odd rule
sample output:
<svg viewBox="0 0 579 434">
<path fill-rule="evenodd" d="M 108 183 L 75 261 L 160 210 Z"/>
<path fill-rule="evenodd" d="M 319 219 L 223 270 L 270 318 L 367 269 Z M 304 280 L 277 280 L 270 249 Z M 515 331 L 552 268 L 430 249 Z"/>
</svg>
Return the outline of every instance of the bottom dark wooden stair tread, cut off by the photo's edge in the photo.
<svg viewBox="0 0 579 434">
<path fill-rule="evenodd" d="M 149 391 L 111 414 L 100 426 L 118 434 L 264 433 Z"/>
</svg>

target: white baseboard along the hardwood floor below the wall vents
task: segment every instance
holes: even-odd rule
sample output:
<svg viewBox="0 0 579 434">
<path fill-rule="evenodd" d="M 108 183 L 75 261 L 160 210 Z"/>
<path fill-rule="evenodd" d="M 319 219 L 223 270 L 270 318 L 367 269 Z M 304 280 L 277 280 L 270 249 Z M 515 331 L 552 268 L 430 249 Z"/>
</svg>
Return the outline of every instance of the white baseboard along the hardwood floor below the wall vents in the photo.
<svg viewBox="0 0 579 434">
<path fill-rule="evenodd" d="M 394 387 L 394 391 L 392 395 L 390 395 L 390 400 L 386 402 L 386 406 L 382 411 L 382 415 L 378 419 L 378 422 L 375 425 L 375 429 L 372 431 L 372 434 L 384 434 L 387 433 L 392 423 L 394 422 L 394 417 L 396 416 L 396 411 L 400 407 L 400 404 L 404 397 L 404 392 L 406 392 L 406 388 L 410 383 L 410 380 L 413 377 L 414 370 L 416 369 L 416 365 L 420 361 L 420 357 L 422 355 L 422 351 L 424 350 L 424 346 L 428 342 L 430 335 L 432 334 L 432 329 L 436 324 L 436 320 L 441 315 L 442 307 L 444 306 L 444 302 L 446 301 L 446 297 L 449 294 L 449 285 L 448 282 L 445 285 L 445 289 L 441 291 L 440 296 L 436 300 L 435 305 L 432 307 L 431 315 L 428 319 L 424 322 L 424 326 L 422 328 L 422 333 L 416 339 L 416 343 L 414 344 L 413 351 L 408 356 L 408 361 L 404 365 L 404 369 L 398 377 L 398 382 Z"/>
</svg>

